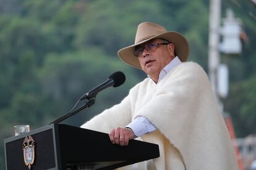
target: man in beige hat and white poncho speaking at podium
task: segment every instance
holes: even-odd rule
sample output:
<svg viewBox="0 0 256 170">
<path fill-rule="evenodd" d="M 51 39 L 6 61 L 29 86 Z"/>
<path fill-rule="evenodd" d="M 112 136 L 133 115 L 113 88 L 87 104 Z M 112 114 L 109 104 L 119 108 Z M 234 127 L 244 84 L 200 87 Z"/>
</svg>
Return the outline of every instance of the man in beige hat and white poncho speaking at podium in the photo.
<svg viewBox="0 0 256 170">
<path fill-rule="evenodd" d="M 197 63 L 186 62 L 189 44 L 182 34 L 144 22 L 135 44 L 118 55 L 148 78 L 82 127 L 107 132 L 121 146 L 137 137 L 158 144 L 160 158 L 148 168 L 238 169 L 207 75 Z"/>
</svg>

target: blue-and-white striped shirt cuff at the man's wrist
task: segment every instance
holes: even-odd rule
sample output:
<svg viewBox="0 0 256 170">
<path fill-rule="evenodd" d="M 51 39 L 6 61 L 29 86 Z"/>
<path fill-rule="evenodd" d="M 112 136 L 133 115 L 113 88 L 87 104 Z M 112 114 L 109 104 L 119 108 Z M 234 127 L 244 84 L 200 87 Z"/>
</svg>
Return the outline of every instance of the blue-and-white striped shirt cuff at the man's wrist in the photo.
<svg viewBox="0 0 256 170">
<path fill-rule="evenodd" d="M 147 134 L 148 132 L 153 132 L 156 130 L 155 125 L 143 116 L 135 118 L 126 127 L 129 127 L 130 129 L 132 129 L 132 131 L 134 131 L 135 137 L 140 137 L 144 134 Z"/>
</svg>

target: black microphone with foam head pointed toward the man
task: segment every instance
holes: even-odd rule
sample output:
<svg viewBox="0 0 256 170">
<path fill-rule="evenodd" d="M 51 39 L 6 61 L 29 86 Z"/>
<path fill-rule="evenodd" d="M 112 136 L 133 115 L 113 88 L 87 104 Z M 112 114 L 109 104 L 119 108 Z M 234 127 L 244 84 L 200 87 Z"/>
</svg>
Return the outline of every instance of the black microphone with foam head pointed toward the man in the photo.
<svg viewBox="0 0 256 170">
<path fill-rule="evenodd" d="M 92 97 L 95 97 L 98 92 L 103 91 L 108 87 L 121 86 L 124 81 L 126 81 L 126 76 L 124 75 L 124 73 L 122 73 L 121 71 L 116 71 L 111 76 L 109 76 L 109 79 L 107 79 L 104 83 L 101 83 L 99 86 L 90 90 L 89 92 L 87 92 L 87 94 L 82 95 L 82 97 L 80 97 L 80 100 L 91 99 Z"/>
</svg>

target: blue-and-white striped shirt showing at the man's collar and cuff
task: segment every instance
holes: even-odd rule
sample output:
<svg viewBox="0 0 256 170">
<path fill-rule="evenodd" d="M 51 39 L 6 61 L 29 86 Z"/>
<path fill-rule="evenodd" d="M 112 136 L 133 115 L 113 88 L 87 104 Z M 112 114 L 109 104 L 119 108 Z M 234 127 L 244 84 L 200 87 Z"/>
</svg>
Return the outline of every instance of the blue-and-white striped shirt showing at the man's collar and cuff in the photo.
<svg viewBox="0 0 256 170">
<path fill-rule="evenodd" d="M 171 62 L 166 65 L 159 74 L 158 82 L 159 83 L 164 76 L 166 76 L 169 71 L 171 71 L 174 67 L 179 65 L 181 63 L 181 60 L 176 56 Z M 148 76 L 150 78 L 150 76 Z M 147 134 L 148 132 L 153 132 L 157 128 L 153 123 L 151 123 L 147 118 L 143 116 L 138 116 L 135 118 L 130 124 L 128 124 L 126 127 L 129 127 L 134 131 L 135 137 L 143 136 L 144 134 Z"/>
</svg>

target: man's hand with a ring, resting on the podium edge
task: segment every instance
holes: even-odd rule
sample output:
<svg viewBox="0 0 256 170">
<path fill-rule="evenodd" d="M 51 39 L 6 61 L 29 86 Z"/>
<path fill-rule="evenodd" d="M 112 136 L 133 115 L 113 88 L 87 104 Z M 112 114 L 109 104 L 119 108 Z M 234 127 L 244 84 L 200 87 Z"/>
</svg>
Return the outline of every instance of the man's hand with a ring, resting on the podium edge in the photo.
<svg viewBox="0 0 256 170">
<path fill-rule="evenodd" d="M 109 132 L 109 139 L 112 144 L 127 146 L 130 139 L 134 139 L 134 132 L 130 128 L 117 127 Z"/>
</svg>

